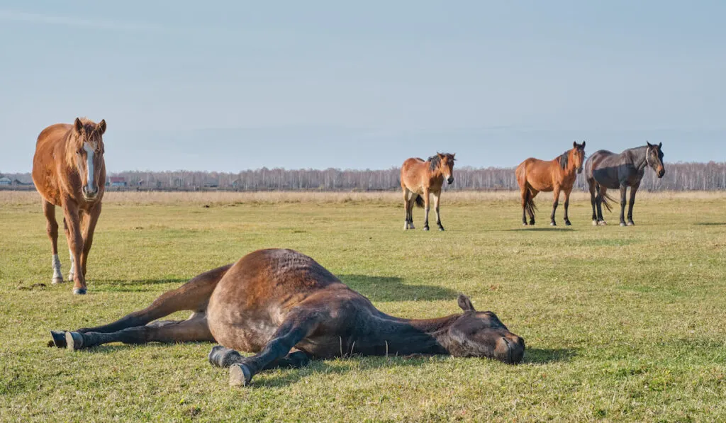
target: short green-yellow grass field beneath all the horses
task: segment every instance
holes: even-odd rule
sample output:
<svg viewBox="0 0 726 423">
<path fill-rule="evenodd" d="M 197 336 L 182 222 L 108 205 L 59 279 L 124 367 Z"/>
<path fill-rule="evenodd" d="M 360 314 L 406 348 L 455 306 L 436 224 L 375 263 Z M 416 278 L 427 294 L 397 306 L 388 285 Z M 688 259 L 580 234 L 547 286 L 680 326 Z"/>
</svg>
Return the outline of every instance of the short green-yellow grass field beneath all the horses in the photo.
<svg viewBox="0 0 726 423">
<path fill-rule="evenodd" d="M 632 228 L 592 227 L 582 195 L 574 226 L 550 228 L 543 195 L 534 229 L 515 194 L 447 193 L 443 233 L 403 231 L 398 194 L 109 193 L 84 297 L 49 284 L 36 196 L 0 193 L 3 422 L 726 420 L 724 193 L 644 193 Z M 464 292 L 524 337 L 524 362 L 354 356 L 231 388 L 211 344 L 45 346 L 263 247 L 311 255 L 396 316 L 457 313 Z"/>
</svg>

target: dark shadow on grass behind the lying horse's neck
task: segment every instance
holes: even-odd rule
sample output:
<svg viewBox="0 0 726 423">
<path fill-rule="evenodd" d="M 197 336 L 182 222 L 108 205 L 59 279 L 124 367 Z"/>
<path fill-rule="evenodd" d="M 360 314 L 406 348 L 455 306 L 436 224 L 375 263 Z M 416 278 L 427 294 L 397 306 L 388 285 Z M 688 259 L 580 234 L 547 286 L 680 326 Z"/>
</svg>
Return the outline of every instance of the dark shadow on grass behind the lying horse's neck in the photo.
<svg viewBox="0 0 726 423">
<path fill-rule="evenodd" d="M 459 292 L 436 285 L 404 284 L 396 276 L 340 275 L 344 284 L 360 292 L 371 301 L 456 300 Z"/>
</svg>

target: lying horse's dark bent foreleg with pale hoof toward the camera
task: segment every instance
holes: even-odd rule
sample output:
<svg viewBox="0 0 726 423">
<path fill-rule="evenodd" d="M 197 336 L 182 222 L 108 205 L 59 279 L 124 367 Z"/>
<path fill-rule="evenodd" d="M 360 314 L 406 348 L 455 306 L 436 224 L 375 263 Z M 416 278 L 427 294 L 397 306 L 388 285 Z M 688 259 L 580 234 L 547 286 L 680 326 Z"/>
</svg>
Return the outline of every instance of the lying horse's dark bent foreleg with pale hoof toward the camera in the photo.
<svg viewBox="0 0 726 423">
<path fill-rule="evenodd" d="M 249 385 L 255 374 L 287 356 L 298 342 L 315 332 L 320 319 L 323 318 L 317 308 L 288 314 L 265 348 L 254 356 L 239 358 L 232 363 L 229 385 Z"/>
</svg>

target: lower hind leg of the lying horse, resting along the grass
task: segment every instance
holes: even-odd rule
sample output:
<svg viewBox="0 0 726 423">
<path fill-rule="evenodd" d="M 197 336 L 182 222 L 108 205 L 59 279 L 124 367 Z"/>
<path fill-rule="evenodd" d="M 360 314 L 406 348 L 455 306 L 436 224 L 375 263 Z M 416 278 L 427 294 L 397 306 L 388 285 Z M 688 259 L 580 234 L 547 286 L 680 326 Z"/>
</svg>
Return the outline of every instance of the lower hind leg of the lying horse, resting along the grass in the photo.
<svg viewBox="0 0 726 423">
<path fill-rule="evenodd" d="M 146 344 L 148 342 L 214 342 L 205 313 L 194 313 L 187 320 L 160 321 L 147 326 L 129 327 L 118 332 L 65 332 L 71 350 L 89 348 L 110 342 Z"/>
</svg>

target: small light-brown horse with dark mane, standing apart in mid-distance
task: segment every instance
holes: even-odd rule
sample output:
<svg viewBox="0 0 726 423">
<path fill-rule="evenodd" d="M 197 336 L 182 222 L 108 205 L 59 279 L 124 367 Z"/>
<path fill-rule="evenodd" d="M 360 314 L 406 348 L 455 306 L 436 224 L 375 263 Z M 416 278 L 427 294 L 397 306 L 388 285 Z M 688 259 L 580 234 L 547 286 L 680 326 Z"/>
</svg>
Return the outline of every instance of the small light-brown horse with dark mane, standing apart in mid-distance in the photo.
<svg viewBox="0 0 726 423">
<path fill-rule="evenodd" d="M 436 225 L 439 231 L 444 230 L 441 226 L 441 215 L 439 214 L 439 200 L 441 199 L 441 186 L 446 183 L 451 185 L 454 182 L 454 154 L 439 153 L 423 160 L 418 157 L 407 159 L 401 166 L 401 190 L 404 192 L 404 209 L 406 210 L 406 221 L 404 230 L 415 229 L 413 226 L 413 205 L 424 208 L 425 218 L 423 230 L 428 231 L 428 210 L 429 194 L 433 194 L 433 210 L 436 211 Z"/>
</svg>

